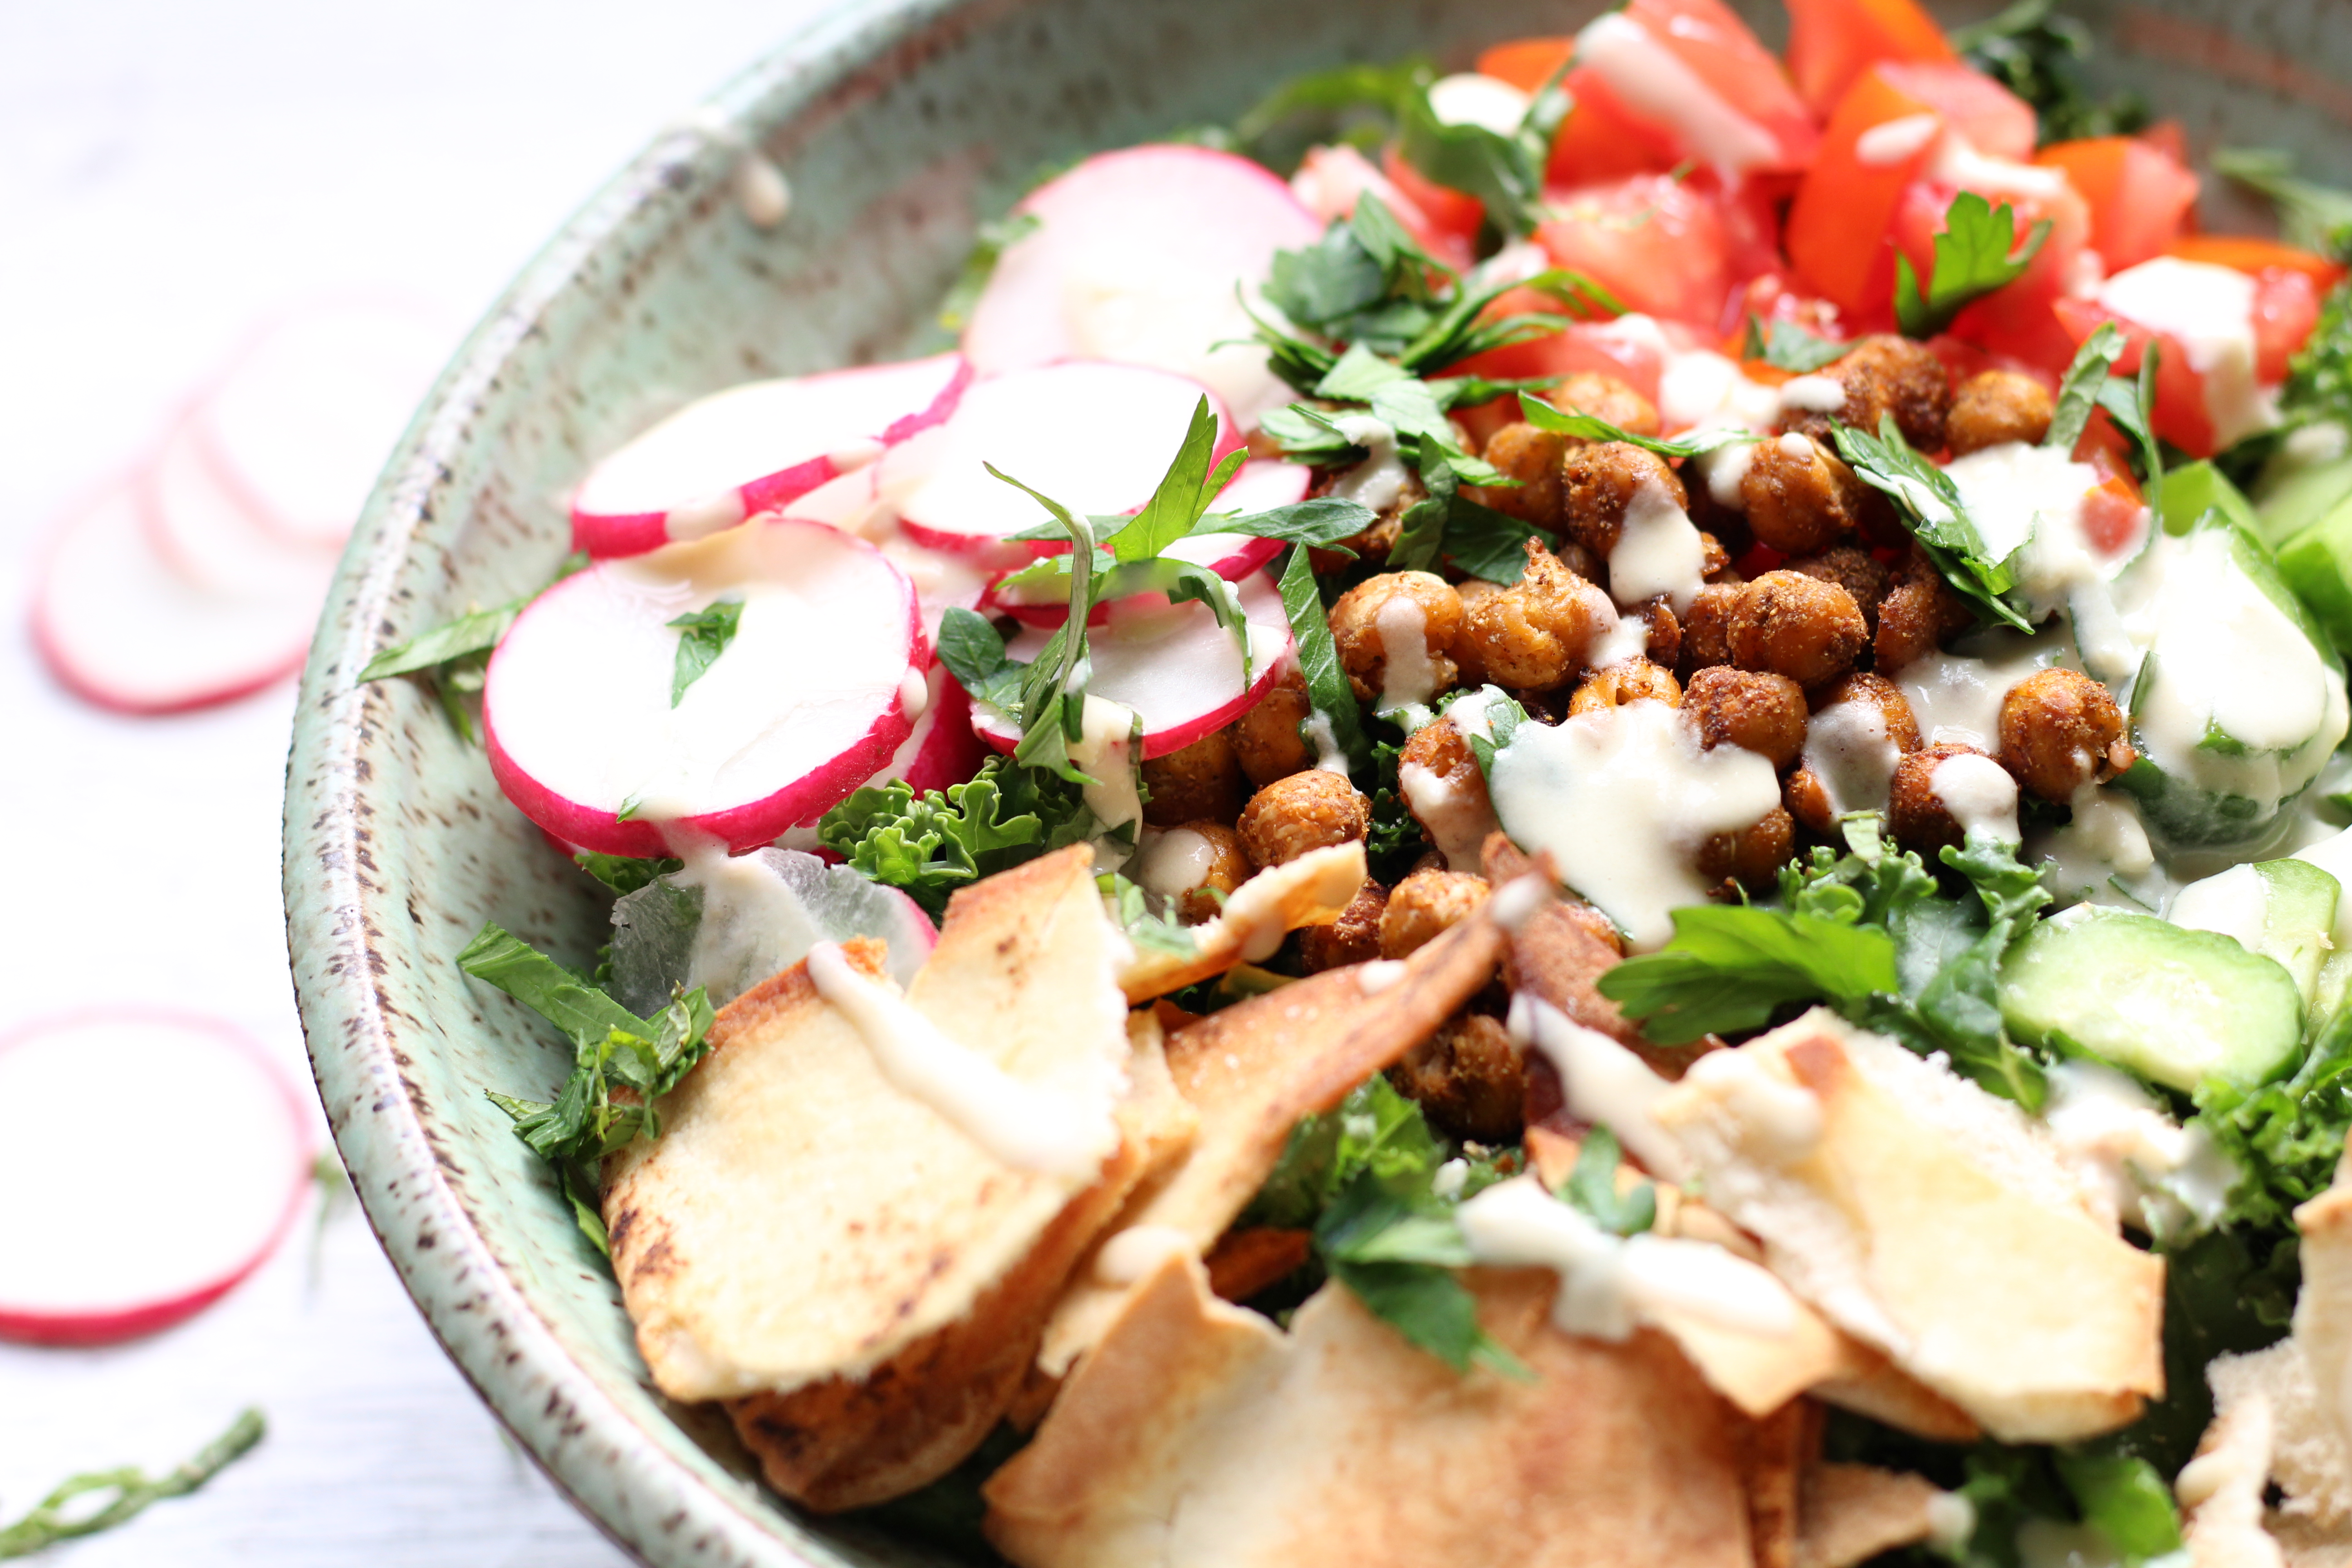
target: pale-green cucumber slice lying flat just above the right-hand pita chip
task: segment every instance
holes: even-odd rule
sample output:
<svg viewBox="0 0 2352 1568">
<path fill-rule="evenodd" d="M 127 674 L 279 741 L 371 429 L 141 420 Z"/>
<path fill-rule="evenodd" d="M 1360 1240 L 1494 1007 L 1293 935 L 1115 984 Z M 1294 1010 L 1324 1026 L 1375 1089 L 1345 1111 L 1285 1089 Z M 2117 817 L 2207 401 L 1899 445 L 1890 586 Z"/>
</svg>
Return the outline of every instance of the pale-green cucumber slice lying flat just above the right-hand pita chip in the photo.
<svg viewBox="0 0 2352 1568">
<path fill-rule="evenodd" d="M 2171 1088 L 2260 1084 L 2296 1060 L 2303 992 L 2234 938 L 2150 914 L 2042 922 L 2002 964 L 2020 1041 L 2096 1056 Z"/>
</svg>

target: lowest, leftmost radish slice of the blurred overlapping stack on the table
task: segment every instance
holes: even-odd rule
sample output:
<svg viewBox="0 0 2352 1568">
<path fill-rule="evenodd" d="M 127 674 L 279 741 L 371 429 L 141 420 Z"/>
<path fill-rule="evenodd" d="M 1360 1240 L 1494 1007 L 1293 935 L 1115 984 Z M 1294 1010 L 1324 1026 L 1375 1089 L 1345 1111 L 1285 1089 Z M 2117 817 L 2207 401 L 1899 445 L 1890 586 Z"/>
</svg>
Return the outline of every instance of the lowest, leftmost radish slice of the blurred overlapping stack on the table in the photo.
<svg viewBox="0 0 2352 1568">
<path fill-rule="evenodd" d="M 261 691 L 301 668 L 318 592 L 223 595 L 172 571 L 148 541 L 139 489 L 78 512 L 33 590 L 33 644 L 87 703 L 186 712 Z"/>
</svg>

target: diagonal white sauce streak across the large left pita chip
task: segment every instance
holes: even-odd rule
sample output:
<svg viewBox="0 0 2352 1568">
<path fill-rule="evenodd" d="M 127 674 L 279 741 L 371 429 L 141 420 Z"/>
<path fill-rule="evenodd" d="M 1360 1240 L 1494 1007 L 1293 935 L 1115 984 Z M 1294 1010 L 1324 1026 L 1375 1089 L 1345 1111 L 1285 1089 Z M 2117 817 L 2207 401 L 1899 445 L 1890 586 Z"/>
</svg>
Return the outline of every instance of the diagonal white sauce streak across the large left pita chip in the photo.
<svg viewBox="0 0 2352 1568">
<path fill-rule="evenodd" d="M 1016 1171 L 1089 1175 L 1120 1147 L 1115 1077 L 1028 1084 L 953 1039 L 896 987 L 858 973 L 835 943 L 809 950 L 816 994 L 840 1009 L 898 1091 Z"/>
</svg>

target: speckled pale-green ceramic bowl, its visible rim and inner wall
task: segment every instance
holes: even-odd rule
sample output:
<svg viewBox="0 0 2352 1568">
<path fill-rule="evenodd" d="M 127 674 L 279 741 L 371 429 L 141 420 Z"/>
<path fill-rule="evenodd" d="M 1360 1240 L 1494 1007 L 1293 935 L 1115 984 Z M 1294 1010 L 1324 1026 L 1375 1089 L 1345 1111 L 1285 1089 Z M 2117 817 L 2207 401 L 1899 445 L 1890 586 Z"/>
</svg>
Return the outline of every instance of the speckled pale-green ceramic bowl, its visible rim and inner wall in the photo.
<svg viewBox="0 0 2352 1568">
<path fill-rule="evenodd" d="M 654 1392 L 619 1291 L 485 1086 L 548 1093 L 564 1053 L 452 954 L 485 919 L 583 961 L 602 900 L 428 693 L 355 689 L 412 632 L 548 578 L 564 494 L 687 397 L 936 339 L 974 223 L 1040 167 L 1230 120 L 1341 59 L 1468 61 L 1564 33 L 1595 0 L 866 0 L 783 45 L 623 169 L 541 252 L 442 376 L 343 557 L 287 769 L 287 940 L 360 1201 L 449 1356 L 616 1542 L 663 1568 L 938 1563 L 800 1514 L 727 1422 Z M 1778 5 L 1743 5 L 1778 40 Z M 2277 143 L 2347 172 L 2343 2 L 2072 5 L 2100 85 L 2133 82 L 2190 143 Z M 1966 21 L 1955 9 L 1950 21 Z M 790 181 L 746 219 L 746 150 Z M 2227 223 L 2209 193 L 2209 219 Z M 1150 244 L 1148 235 L 1138 235 Z M 433 1434 L 416 1434 L 433 1441 Z"/>
</svg>

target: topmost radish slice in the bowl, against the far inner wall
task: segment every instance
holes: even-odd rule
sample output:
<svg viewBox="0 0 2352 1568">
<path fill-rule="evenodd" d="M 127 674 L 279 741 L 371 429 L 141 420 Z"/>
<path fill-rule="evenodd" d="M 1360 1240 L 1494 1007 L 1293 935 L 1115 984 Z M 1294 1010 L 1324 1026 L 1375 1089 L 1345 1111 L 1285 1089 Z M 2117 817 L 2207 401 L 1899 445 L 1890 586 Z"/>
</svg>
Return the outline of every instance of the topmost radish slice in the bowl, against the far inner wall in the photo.
<svg viewBox="0 0 2352 1568">
<path fill-rule="evenodd" d="M 1141 146 L 1089 158 L 1014 212 L 1037 228 L 1004 247 L 964 327 L 983 376 L 1054 360 L 1152 364 L 1216 388 L 1244 423 L 1291 400 L 1242 308 L 1247 292 L 1265 315 L 1256 289 L 1275 252 L 1324 228 L 1279 176 L 1232 153 Z"/>
</svg>

